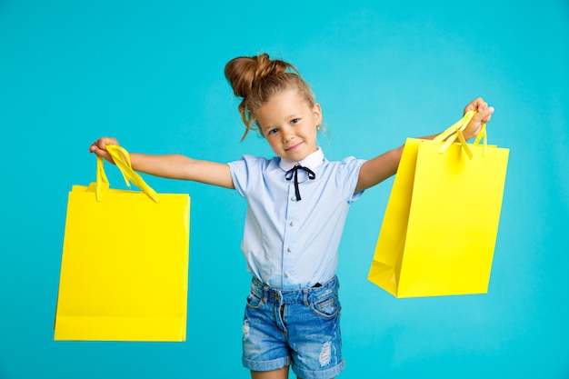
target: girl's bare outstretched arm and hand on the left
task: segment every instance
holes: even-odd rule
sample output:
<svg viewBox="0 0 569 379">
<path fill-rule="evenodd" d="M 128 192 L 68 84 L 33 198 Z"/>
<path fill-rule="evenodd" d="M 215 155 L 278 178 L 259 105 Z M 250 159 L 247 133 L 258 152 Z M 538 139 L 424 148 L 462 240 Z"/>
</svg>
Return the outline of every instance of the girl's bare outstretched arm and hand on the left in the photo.
<svg viewBox="0 0 569 379">
<path fill-rule="evenodd" d="M 91 153 L 104 157 L 114 163 L 107 153 L 106 145 L 118 145 L 115 138 L 103 137 L 89 147 Z M 201 161 L 185 155 L 145 155 L 130 154 L 131 163 L 135 171 L 145 174 L 161 176 L 170 179 L 192 180 L 207 185 L 219 185 L 225 188 L 235 188 L 231 178 L 229 165 Z"/>
</svg>

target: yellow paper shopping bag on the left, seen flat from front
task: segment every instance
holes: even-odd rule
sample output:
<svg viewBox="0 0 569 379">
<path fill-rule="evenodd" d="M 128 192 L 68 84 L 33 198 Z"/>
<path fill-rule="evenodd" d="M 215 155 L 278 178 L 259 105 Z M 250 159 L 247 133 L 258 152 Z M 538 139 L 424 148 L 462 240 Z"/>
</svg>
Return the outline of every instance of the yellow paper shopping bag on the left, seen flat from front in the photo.
<svg viewBox="0 0 569 379">
<path fill-rule="evenodd" d="M 143 192 L 96 183 L 69 193 L 55 340 L 185 341 L 189 260 L 187 194 L 156 194 L 128 153 L 107 145 Z"/>
</svg>

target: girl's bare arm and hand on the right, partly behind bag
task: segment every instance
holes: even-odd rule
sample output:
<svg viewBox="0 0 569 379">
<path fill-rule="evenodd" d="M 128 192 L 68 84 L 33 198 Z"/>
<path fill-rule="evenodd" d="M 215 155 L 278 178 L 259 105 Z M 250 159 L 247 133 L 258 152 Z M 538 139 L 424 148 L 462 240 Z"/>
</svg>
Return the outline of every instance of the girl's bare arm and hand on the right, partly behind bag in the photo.
<svg viewBox="0 0 569 379">
<path fill-rule="evenodd" d="M 464 129 L 464 139 L 469 140 L 480 133 L 483 124 L 486 124 L 492 118 L 494 108 L 488 106 L 482 98 L 477 98 L 464 108 L 464 114 L 469 111 L 477 111 L 468 126 Z M 421 137 L 422 139 L 433 139 L 436 135 Z M 354 193 L 364 191 L 374 185 L 383 182 L 385 179 L 397 172 L 403 147 L 399 146 L 393 150 L 376 156 L 362 165 L 360 175 L 355 186 Z"/>
</svg>

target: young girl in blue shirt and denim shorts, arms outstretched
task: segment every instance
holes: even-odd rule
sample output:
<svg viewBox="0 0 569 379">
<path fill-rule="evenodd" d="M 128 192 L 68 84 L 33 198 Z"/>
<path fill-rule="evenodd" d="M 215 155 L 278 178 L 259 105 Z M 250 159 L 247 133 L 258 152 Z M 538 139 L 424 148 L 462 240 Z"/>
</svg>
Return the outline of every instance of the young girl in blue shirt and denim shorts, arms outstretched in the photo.
<svg viewBox="0 0 569 379">
<path fill-rule="evenodd" d="M 137 171 L 237 190 L 247 200 L 241 248 L 253 274 L 243 323 L 243 364 L 253 378 L 329 379 L 344 369 L 340 335 L 338 244 L 350 204 L 394 175 L 403 146 L 364 161 L 329 162 L 316 142 L 322 109 L 293 65 L 269 55 L 225 65 L 245 135 L 258 130 L 275 152 L 221 164 L 183 155 L 132 154 Z M 478 98 L 464 131 L 474 137 L 494 108 Z M 243 136 L 245 138 L 245 135 Z M 434 137 L 434 136 L 432 136 Z M 426 138 L 432 138 L 426 137 Z M 90 147 L 112 162 L 101 138 Z"/>
</svg>

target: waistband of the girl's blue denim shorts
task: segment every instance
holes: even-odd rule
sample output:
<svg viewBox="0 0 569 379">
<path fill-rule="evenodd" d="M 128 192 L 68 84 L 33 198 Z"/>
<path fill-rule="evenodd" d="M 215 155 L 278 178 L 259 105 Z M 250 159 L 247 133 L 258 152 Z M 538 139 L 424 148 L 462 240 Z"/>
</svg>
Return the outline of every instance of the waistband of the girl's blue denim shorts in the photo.
<svg viewBox="0 0 569 379">
<path fill-rule="evenodd" d="M 275 304 L 310 304 L 311 300 L 314 298 L 327 296 L 330 293 L 337 292 L 339 286 L 338 278 L 335 275 L 331 280 L 320 286 L 294 290 L 273 288 L 268 284 L 262 283 L 255 276 L 251 281 L 251 291 L 253 293 L 263 299 L 264 303 L 270 302 Z"/>
</svg>

